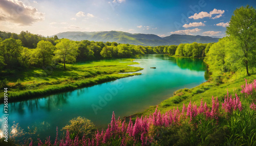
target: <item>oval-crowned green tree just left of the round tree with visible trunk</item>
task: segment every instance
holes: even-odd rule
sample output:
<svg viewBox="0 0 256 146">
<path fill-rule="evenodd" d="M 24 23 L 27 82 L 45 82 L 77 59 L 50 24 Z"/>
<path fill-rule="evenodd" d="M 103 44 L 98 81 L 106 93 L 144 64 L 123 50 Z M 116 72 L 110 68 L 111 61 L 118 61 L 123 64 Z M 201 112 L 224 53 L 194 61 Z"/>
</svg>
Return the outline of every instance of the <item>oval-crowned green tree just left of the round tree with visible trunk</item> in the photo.
<svg viewBox="0 0 256 146">
<path fill-rule="evenodd" d="M 36 56 L 40 65 L 49 65 L 53 59 L 54 45 L 49 41 L 41 40 L 37 43 L 36 48 Z"/>
</svg>

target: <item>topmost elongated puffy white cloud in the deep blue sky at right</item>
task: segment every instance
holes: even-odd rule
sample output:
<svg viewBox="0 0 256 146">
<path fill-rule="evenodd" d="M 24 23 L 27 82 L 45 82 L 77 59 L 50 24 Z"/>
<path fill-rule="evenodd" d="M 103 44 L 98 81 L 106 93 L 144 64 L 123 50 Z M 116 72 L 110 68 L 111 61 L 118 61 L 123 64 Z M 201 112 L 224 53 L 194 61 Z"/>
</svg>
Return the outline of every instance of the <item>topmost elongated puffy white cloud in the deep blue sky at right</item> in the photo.
<svg viewBox="0 0 256 146">
<path fill-rule="evenodd" d="M 195 13 L 194 15 L 192 15 L 192 16 L 190 16 L 190 17 L 188 17 L 188 18 L 190 18 L 190 19 L 201 19 L 201 18 L 204 18 L 204 17 L 209 17 L 209 18 L 211 18 L 212 17 L 212 15 L 214 15 L 214 14 L 219 14 L 219 15 L 217 15 L 217 16 L 215 16 L 215 17 L 212 17 L 212 19 L 216 19 L 216 18 L 220 18 L 221 16 L 222 16 L 222 14 L 224 14 L 224 10 L 217 10 L 217 9 L 214 9 L 214 10 L 212 10 L 212 11 L 210 11 L 209 13 L 207 13 L 207 12 L 200 12 L 200 13 Z"/>
</svg>

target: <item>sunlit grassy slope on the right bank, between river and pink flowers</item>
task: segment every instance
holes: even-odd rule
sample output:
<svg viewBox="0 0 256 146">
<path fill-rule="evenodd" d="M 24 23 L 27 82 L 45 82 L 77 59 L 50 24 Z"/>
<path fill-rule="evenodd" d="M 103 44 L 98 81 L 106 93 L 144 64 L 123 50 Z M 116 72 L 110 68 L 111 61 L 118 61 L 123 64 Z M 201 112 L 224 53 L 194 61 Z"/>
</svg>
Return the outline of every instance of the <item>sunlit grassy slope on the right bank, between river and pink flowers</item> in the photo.
<svg viewBox="0 0 256 146">
<path fill-rule="evenodd" d="M 191 104 L 195 103 L 197 106 L 200 106 L 201 99 L 203 99 L 204 102 L 207 102 L 207 106 L 211 107 L 211 98 L 214 96 L 215 98 L 218 96 L 218 99 L 220 102 L 224 102 L 224 97 L 227 94 L 227 89 L 229 94 L 232 94 L 234 97 L 235 93 L 237 93 L 241 98 L 244 98 L 244 96 L 241 94 L 241 85 L 245 85 L 245 80 L 248 80 L 248 82 L 252 82 L 254 79 L 256 79 L 256 75 L 251 76 L 244 76 L 240 77 L 239 79 L 234 79 L 234 75 L 231 75 L 230 73 L 224 75 L 225 78 L 223 80 L 222 84 L 217 85 L 216 82 L 211 81 L 211 79 L 197 87 L 191 88 L 191 89 L 180 89 L 174 92 L 174 96 L 170 97 L 169 99 L 161 102 L 158 105 L 158 110 L 161 111 L 161 113 L 165 113 L 166 111 L 173 109 L 173 108 L 179 108 L 180 110 L 183 107 L 183 104 L 186 106 L 191 101 Z M 243 106 L 249 106 L 248 103 L 242 102 Z M 136 113 L 134 115 L 131 115 L 134 119 L 136 116 L 141 115 L 149 115 L 155 112 L 157 106 L 151 106 L 147 110 L 145 110 L 142 113 Z"/>
</svg>

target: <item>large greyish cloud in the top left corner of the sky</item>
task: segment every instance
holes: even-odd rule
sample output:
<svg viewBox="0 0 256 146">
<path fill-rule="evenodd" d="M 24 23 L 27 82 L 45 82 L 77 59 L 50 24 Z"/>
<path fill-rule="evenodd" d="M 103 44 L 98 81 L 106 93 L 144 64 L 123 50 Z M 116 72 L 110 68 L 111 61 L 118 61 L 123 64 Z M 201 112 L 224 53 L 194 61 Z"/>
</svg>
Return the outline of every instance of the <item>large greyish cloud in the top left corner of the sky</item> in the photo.
<svg viewBox="0 0 256 146">
<path fill-rule="evenodd" d="M 17 23 L 20 26 L 29 26 L 34 22 L 45 20 L 45 14 L 38 12 L 34 7 L 27 6 L 17 0 L 0 1 L 0 21 Z"/>
</svg>

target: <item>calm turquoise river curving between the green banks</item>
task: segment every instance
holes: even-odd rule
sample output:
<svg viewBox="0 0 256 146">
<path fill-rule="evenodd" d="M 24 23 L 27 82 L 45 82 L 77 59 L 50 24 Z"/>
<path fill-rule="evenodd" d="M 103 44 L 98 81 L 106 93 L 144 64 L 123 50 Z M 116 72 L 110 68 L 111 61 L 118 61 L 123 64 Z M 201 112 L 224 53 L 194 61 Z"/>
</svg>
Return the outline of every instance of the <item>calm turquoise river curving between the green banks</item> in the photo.
<svg viewBox="0 0 256 146">
<path fill-rule="evenodd" d="M 138 71 L 140 76 L 10 103 L 9 126 L 18 123 L 25 130 L 36 127 L 40 138 L 54 138 L 56 127 L 61 129 L 70 119 L 84 116 L 101 129 L 110 123 L 113 111 L 120 117 L 142 112 L 168 99 L 178 89 L 193 88 L 207 80 L 206 65 L 200 59 L 145 55 L 135 61 L 140 64 L 133 66 L 144 68 Z"/>
</svg>

